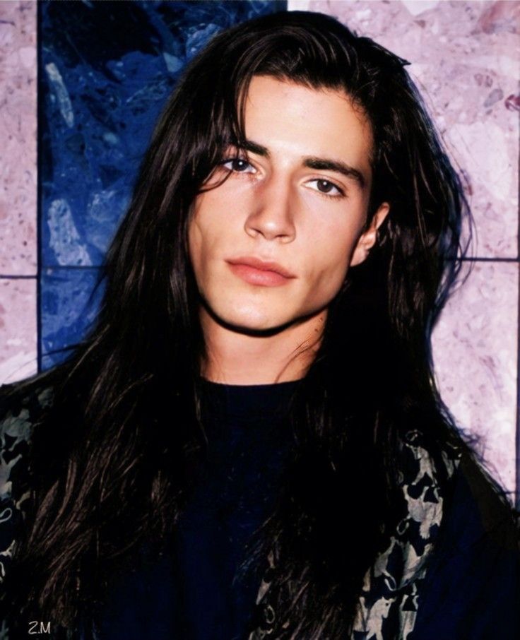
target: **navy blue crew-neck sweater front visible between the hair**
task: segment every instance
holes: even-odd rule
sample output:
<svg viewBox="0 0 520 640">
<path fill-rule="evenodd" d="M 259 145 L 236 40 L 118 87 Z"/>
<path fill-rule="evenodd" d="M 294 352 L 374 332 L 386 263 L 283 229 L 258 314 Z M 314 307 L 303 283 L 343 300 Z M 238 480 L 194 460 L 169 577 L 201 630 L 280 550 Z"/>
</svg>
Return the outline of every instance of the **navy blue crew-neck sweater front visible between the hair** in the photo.
<svg viewBox="0 0 520 640">
<path fill-rule="evenodd" d="M 273 507 L 297 385 L 203 381 L 208 456 L 168 552 L 120 571 L 98 615 L 101 640 L 242 640 L 259 582 L 235 579 Z M 235 581 L 234 581 L 235 579 Z"/>
</svg>

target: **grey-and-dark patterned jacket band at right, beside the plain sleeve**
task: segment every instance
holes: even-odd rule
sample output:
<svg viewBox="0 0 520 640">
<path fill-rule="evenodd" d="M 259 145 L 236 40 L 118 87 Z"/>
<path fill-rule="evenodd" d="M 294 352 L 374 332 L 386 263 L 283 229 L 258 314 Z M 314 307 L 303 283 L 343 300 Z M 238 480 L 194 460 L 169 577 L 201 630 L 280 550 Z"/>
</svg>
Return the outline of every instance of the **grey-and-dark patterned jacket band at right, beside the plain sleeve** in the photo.
<svg viewBox="0 0 520 640">
<path fill-rule="evenodd" d="M 368 638 L 406 638 L 415 627 L 421 587 L 461 460 L 457 446 L 446 444 L 434 452 L 419 429 L 403 434 L 400 449 L 396 524 L 367 571 L 355 620 L 354 631 Z"/>
</svg>

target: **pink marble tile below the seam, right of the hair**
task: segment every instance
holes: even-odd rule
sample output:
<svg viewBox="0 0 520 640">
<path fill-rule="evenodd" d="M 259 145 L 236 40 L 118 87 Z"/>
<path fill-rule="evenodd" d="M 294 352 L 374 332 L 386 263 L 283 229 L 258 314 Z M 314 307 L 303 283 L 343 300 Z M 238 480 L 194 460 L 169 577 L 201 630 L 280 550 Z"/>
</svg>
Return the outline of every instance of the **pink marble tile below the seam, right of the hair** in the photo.
<svg viewBox="0 0 520 640">
<path fill-rule="evenodd" d="M 515 482 L 518 266 L 474 263 L 434 332 L 442 398 L 464 429 L 482 437 L 492 473 Z"/>
</svg>

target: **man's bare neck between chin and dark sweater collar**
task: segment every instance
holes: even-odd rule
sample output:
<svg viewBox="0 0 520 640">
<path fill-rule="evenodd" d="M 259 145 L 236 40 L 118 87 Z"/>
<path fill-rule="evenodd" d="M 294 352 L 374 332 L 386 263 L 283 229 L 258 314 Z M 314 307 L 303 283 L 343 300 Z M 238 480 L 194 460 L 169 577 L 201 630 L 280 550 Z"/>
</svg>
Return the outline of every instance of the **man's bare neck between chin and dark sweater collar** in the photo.
<svg viewBox="0 0 520 640">
<path fill-rule="evenodd" d="M 273 384 L 305 377 L 321 344 L 326 310 L 273 335 L 249 335 L 200 312 L 206 344 L 202 377 L 223 384 Z"/>
</svg>

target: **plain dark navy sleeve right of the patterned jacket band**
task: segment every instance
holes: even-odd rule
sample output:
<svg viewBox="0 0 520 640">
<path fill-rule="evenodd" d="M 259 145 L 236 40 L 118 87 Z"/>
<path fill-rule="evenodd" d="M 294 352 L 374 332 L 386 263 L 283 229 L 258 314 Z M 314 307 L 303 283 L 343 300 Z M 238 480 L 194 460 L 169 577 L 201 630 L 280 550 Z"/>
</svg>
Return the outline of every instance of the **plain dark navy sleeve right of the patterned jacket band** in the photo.
<svg viewBox="0 0 520 640">
<path fill-rule="evenodd" d="M 480 463 L 461 456 L 410 639 L 520 636 L 517 514 Z"/>
</svg>

